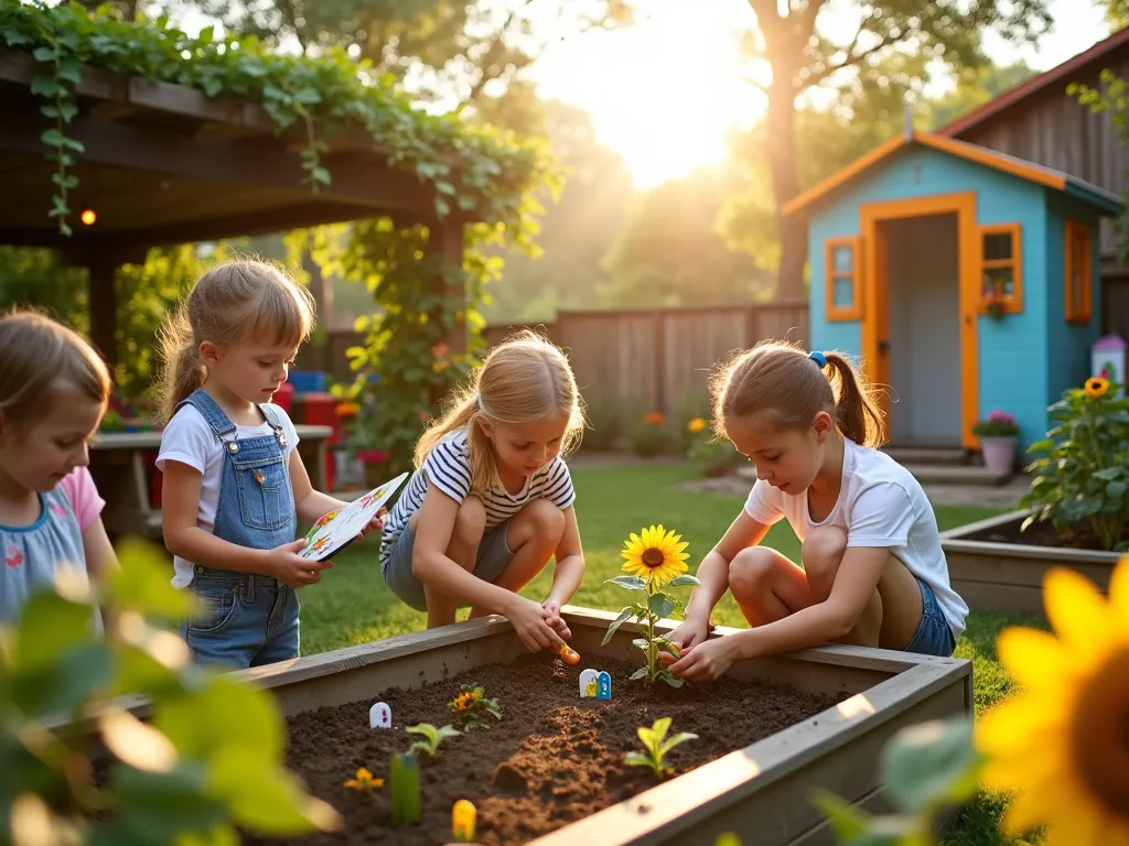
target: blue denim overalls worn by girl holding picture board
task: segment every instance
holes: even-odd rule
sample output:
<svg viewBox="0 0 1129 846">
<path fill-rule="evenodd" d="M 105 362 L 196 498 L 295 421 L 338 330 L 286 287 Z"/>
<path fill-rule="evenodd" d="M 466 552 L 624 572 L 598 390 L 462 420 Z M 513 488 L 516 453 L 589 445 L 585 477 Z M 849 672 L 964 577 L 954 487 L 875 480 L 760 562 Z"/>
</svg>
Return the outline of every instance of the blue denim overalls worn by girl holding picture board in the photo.
<svg viewBox="0 0 1129 846">
<path fill-rule="evenodd" d="M 224 448 L 212 534 L 254 549 L 292 541 L 298 519 L 278 417 L 260 406 L 273 432 L 239 438 L 202 390 L 185 402 L 204 416 Z M 192 589 L 212 613 L 211 622 L 184 629 L 198 660 L 256 667 L 297 656 L 298 597 L 292 589 L 272 576 L 199 565 Z"/>
</svg>

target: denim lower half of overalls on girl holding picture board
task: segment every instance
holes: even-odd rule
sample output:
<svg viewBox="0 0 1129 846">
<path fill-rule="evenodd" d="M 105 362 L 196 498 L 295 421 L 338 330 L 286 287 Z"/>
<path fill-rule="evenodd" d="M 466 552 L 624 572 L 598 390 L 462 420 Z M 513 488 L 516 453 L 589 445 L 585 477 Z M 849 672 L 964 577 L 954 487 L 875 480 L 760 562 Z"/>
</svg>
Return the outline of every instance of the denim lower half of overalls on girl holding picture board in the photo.
<svg viewBox="0 0 1129 846">
<path fill-rule="evenodd" d="M 195 617 L 181 634 L 193 660 L 245 669 L 298 655 L 298 594 L 277 579 L 196 567 Z"/>
</svg>

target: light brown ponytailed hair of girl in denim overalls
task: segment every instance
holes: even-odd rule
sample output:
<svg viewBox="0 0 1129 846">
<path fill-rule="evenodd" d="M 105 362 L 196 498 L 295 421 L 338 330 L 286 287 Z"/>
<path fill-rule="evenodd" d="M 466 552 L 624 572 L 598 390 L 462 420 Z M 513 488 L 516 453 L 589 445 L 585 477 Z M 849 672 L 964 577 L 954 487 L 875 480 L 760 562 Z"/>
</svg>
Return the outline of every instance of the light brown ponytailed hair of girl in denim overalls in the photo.
<svg viewBox="0 0 1129 846">
<path fill-rule="evenodd" d="M 246 259 L 213 267 L 160 328 L 161 417 L 170 420 L 208 378 L 200 356 L 203 342 L 297 350 L 313 329 L 314 298 L 273 264 Z"/>
</svg>

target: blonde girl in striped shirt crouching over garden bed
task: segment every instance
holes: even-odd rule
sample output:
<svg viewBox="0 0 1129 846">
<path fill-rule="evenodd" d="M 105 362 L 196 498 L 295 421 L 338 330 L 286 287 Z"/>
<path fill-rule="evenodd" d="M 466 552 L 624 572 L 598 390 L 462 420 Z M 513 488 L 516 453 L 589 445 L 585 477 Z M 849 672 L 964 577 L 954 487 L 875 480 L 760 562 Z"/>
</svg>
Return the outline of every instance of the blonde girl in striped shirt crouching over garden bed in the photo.
<svg viewBox="0 0 1129 846">
<path fill-rule="evenodd" d="M 384 528 L 380 569 L 428 628 L 501 614 L 531 652 L 570 632 L 560 608 L 584 578 L 563 456 L 584 430 L 563 353 L 532 332 L 496 346 L 415 447 L 412 477 Z M 543 602 L 518 594 L 554 557 Z"/>
</svg>

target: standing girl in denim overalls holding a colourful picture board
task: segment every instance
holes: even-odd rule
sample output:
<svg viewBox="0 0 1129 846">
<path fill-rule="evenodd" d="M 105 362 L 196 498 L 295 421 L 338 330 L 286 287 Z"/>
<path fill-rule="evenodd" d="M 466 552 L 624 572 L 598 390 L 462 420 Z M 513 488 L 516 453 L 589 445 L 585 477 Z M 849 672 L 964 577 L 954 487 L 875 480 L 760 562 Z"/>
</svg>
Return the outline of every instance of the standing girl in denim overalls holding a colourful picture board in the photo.
<svg viewBox="0 0 1129 846">
<path fill-rule="evenodd" d="M 163 333 L 165 545 L 173 585 L 198 599 L 181 633 L 202 663 L 296 658 L 296 591 L 332 566 L 300 557 L 295 537 L 299 520 L 345 503 L 313 488 L 294 423 L 270 402 L 313 324 L 305 289 L 272 265 L 234 262 L 204 274 Z"/>
</svg>

